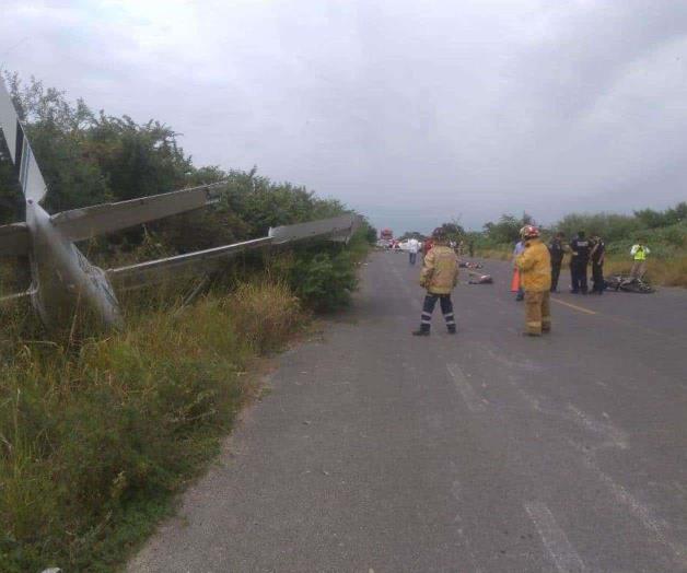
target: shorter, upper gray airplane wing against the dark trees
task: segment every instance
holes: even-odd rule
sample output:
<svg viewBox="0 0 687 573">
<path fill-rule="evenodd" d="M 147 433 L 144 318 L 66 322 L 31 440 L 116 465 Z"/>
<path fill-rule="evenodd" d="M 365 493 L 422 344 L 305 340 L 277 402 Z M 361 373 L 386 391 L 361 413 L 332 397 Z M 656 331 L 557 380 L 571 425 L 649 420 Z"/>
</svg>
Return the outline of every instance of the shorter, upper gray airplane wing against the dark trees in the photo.
<svg viewBox="0 0 687 573">
<path fill-rule="evenodd" d="M 211 204 L 217 201 L 213 189 L 222 185 L 224 182 L 62 211 L 50 217 L 50 221 L 71 241 L 84 241 Z"/>
</svg>

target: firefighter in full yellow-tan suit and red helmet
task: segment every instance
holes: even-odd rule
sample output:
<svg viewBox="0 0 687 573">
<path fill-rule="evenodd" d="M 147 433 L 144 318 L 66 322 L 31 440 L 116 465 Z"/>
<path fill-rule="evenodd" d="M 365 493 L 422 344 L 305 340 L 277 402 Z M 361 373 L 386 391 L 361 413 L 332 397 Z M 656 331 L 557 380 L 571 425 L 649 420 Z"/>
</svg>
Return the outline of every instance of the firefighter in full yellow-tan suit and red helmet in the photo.
<svg viewBox="0 0 687 573">
<path fill-rule="evenodd" d="M 527 336 L 542 336 L 551 330 L 549 297 L 551 289 L 551 257 L 539 238 L 539 230 L 525 225 L 520 231 L 525 250 L 516 264 L 525 289 L 525 331 Z"/>
</svg>

